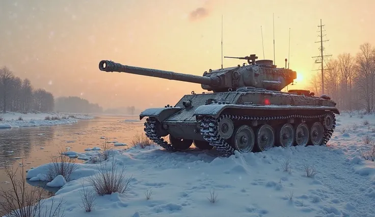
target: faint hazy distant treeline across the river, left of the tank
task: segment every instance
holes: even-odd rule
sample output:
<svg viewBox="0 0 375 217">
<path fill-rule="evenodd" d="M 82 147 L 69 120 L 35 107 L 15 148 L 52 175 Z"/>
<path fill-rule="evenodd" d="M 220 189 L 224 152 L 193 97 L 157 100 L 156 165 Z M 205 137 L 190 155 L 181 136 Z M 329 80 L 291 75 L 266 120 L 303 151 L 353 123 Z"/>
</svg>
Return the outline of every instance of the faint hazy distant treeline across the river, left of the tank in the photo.
<svg viewBox="0 0 375 217">
<path fill-rule="evenodd" d="M 102 113 L 103 108 L 76 96 L 59 97 L 55 101 L 56 112 L 66 113 Z"/>
</svg>

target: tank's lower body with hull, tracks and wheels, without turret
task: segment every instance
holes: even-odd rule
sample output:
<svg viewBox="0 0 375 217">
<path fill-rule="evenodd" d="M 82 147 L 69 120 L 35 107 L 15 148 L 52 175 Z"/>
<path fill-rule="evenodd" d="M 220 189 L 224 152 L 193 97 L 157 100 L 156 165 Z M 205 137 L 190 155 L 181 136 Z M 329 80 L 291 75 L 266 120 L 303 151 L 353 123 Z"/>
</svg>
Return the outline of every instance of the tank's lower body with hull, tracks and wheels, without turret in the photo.
<svg viewBox="0 0 375 217">
<path fill-rule="evenodd" d="M 140 119 L 146 135 L 168 150 L 194 142 L 225 154 L 264 151 L 273 146 L 324 145 L 339 111 L 330 99 L 257 88 L 190 94 L 175 106 L 149 108 Z M 162 139 L 169 134 L 170 144 Z"/>
</svg>

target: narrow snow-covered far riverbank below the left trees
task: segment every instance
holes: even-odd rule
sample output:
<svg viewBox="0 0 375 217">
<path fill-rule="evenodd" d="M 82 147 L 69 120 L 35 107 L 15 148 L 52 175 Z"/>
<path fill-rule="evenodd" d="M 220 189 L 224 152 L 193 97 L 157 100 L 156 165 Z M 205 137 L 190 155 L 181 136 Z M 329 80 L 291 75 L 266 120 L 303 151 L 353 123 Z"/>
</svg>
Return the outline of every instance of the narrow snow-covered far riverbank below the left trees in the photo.
<svg viewBox="0 0 375 217">
<path fill-rule="evenodd" d="M 46 117 L 49 117 L 50 120 L 46 120 Z M 92 119 L 92 118 L 93 118 L 92 116 L 80 115 L 80 114 L 60 114 L 60 113 L 23 114 L 23 113 L 7 112 L 6 114 L 0 114 L 0 128 L 72 124 L 72 123 L 76 123 L 79 119 Z"/>
</svg>

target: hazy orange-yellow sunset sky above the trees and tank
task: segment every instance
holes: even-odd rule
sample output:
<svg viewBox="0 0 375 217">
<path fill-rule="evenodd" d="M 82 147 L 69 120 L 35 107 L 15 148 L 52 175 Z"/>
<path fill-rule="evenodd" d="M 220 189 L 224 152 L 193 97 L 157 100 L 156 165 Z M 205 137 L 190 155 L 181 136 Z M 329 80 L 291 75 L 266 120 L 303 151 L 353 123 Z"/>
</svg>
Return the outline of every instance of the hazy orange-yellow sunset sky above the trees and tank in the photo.
<svg viewBox="0 0 375 217">
<path fill-rule="evenodd" d="M 375 45 L 372 0 L 39 0 L 0 2 L 0 66 L 31 79 L 35 88 L 58 96 L 82 96 L 103 107 L 140 108 L 175 104 L 200 85 L 98 69 L 100 60 L 202 75 L 221 67 L 224 56 L 256 53 L 303 77 L 303 88 L 317 69 L 320 18 L 326 53 L 353 55 L 359 45 Z M 244 61 L 224 59 L 224 67 Z"/>
</svg>

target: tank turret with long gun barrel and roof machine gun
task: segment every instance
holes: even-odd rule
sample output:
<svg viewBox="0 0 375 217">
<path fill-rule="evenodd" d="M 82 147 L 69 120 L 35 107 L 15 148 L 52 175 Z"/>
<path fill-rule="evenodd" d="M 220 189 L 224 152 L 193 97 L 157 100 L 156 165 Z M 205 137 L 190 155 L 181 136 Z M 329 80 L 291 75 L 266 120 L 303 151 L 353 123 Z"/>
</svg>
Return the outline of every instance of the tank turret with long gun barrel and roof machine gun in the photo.
<svg viewBox="0 0 375 217">
<path fill-rule="evenodd" d="M 227 57 L 233 58 L 233 57 Z M 108 60 L 99 63 L 99 69 L 106 72 L 126 72 L 170 80 L 180 80 L 201 84 L 202 89 L 213 92 L 226 92 L 241 87 L 254 87 L 266 90 L 281 91 L 297 78 L 297 73 L 290 69 L 277 68 L 272 60 L 258 60 L 255 55 L 237 59 L 248 60 L 249 65 L 243 64 L 216 70 L 208 70 L 203 76 L 182 74 L 158 69 L 126 66 Z"/>
</svg>

